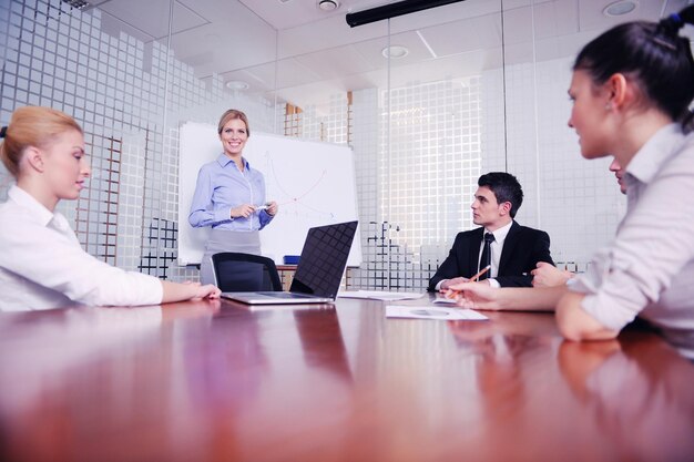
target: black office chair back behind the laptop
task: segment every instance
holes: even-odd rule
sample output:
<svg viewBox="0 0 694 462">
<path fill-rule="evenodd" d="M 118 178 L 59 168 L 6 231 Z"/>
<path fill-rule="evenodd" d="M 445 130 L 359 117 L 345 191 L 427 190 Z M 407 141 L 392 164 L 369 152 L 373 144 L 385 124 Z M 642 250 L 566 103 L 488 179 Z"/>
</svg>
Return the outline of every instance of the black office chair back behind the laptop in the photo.
<svg viewBox="0 0 694 462">
<path fill-rule="evenodd" d="M 223 251 L 212 256 L 217 287 L 222 291 L 282 291 L 275 261 L 259 255 Z"/>
</svg>

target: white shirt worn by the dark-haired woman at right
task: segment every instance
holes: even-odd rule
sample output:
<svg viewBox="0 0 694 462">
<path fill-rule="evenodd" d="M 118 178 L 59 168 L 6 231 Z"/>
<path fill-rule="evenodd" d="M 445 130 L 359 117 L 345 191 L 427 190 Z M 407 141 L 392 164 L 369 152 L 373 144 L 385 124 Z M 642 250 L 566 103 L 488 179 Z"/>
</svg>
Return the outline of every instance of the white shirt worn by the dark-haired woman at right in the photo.
<svg viewBox="0 0 694 462">
<path fill-rule="evenodd" d="M 661 129 L 624 178 L 626 215 L 614 243 L 569 287 L 588 295 L 582 308 L 610 329 L 639 315 L 675 346 L 694 345 L 694 134 Z"/>
</svg>

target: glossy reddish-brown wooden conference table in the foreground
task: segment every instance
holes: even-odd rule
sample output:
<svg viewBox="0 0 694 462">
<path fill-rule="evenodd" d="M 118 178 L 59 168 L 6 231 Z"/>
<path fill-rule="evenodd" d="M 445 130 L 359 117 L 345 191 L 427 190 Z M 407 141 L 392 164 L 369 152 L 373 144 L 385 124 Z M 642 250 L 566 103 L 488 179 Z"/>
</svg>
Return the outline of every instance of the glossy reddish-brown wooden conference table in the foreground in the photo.
<svg viewBox="0 0 694 462">
<path fill-rule="evenodd" d="M 694 460 L 694 366 L 652 333 L 385 305 L 0 314 L 0 460 Z"/>
</svg>

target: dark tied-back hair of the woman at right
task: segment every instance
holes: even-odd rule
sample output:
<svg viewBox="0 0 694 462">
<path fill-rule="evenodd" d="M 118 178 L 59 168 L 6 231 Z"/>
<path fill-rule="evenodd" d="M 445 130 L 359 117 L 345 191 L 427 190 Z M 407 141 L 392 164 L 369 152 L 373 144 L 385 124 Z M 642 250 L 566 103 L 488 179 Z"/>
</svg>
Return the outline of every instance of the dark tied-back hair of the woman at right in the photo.
<svg viewBox="0 0 694 462">
<path fill-rule="evenodd" d="M 673 121 L 686 125 L 694 99 L 694 59 L 680 29 L 694 24 L 694 6 L 660 22 L 616 25 L 586 44 L 573 70 L 586 71 L 601 85 L 615 73 L 632 79 L 646 99 Z"/>
</svg>

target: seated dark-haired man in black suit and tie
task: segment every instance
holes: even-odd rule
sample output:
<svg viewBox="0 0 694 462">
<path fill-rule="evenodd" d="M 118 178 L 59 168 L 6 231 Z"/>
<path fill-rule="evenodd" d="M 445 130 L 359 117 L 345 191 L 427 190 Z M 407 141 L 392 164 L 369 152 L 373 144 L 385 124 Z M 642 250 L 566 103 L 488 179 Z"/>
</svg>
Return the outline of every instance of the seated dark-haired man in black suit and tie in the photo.
<svg viewBox="0 0 694 462">
<path fill-rule="evenodd" d="M 554 264 L 550 236 L 513 219 L 523 202 L 523 189 L 516 176 L 491 172 L 480 176 L 477 184 L 472 222 L 481 227 L 458 233 L 448 257 L 429 280 L 430 291 L 463 283 L 487 265 L 491 269 L 480 280 L 494 287 L 531 287 L 530 271 L 538 261 Z"/>
</svg>

